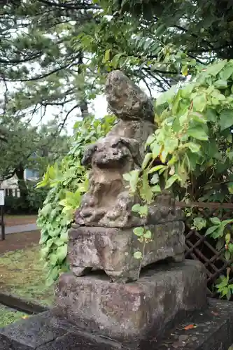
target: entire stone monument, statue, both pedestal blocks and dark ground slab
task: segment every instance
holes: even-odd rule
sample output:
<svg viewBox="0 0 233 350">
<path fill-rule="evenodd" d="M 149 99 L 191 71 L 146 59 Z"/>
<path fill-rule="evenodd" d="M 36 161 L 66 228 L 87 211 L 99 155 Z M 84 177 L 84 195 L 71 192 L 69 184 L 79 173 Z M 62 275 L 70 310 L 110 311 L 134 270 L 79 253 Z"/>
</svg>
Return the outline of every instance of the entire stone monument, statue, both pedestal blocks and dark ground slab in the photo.
<svg viewBox="0 0 233 350">
<path fill-rule="evenodd" d="M 153 105 L 121 71 L 108 75 L 106 97 L 118 122 L 83 156 L 90 187 L 69 230 L 71 272 L 57 282 L 55 307 L 0 328 L 0 350 L 229 350 L 232 302 L 207 304 L 206 272 L 184 260 L 174 200 L 163 193 L 146 216 L 132 213 L 141 200 L 123 174 L 141 167 Z M 140 227 L 152 234 L 146 244 Z"/>
</svg>

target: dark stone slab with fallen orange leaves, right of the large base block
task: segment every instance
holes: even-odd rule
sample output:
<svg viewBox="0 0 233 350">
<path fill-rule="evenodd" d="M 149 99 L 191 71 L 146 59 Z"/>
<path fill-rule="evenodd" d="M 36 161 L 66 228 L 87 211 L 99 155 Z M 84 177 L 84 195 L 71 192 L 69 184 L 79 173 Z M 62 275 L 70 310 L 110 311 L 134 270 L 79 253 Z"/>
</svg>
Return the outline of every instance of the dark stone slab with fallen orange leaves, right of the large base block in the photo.
<svg viewBox="0 0 233 350">
<path fill-rule="evenodd" d="M 187 325 L 195 328 L 185 330 Z M 167 330 L 157 350 L 228 350 L 233 342 L 233 303 L 209 299 L 204 311 L 186 316 Z M 153 348 L 152 348 L 153 349 Z"/>
</svg>

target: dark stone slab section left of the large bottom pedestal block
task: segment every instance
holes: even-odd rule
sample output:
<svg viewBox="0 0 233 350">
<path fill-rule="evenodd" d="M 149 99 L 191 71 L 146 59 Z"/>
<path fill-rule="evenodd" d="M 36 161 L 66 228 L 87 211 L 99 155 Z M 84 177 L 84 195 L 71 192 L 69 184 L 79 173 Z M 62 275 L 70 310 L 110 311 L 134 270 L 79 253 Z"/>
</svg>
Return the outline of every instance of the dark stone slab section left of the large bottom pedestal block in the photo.
<svg viewBox="0 0 233 350">
<path fill-rule="evenodd" d="M 74 329 L 50 311 L 0 328 L 0 350 L 118 350 L 121 345 Z"/>
</svg>

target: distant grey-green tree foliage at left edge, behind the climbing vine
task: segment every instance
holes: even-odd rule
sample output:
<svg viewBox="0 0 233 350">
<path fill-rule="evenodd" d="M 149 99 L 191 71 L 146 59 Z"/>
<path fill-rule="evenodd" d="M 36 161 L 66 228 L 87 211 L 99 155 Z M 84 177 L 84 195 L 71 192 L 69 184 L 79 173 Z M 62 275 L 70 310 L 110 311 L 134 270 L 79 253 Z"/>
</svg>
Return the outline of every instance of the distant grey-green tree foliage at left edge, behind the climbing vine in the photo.
<svg viewBox="0 0 233 350">
<path fill-rule="evenodd" d="M 10 179 L 14 174 L 23 179 L 26 168 L 37 171 L 41 177 L 51 160 L 61 159 L 68 152 L 69 137 L 65 132 L 59 134 L 59 126 L 54 121 L 32 127 L 17 119 L 0 118 L 0 179 Z M 6 133 L 1 141 L 3 126 Z"/>
</svg>

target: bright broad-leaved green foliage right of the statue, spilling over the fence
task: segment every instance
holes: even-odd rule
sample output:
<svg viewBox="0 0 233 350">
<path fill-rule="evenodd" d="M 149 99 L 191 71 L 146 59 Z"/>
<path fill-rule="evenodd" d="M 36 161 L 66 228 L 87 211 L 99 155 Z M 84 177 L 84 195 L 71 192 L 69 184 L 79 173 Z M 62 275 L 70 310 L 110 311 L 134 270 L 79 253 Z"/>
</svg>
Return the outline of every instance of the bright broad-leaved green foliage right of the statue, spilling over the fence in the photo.
<svg viewBox="0 0 233 350">
<path fill-rule="evenodd" d="M 150 203 L 160 190 L 173 191 L 179 200 L 232 202 L 232 93 L 233 61 L 224 60 L 158 97 L 158 127 L 146 143 L 150 151 L 139 176 L 134 172 L 125 174 L 132 193 L 137 191 L 144 204 Z M 153 167 L 158 158 L 164 165 Z M 132 210 L 140 213 L 141 207 L 136 204 Z M 194 228 L 216 239 L 217 248 L 225 246 L 226 260 L 233 258 L 232 218 L 207 220 L 190 212 L 188 218 Z M 144 235 L 142 228 L 136 228 L 134 233 Z"/>
</svg>

